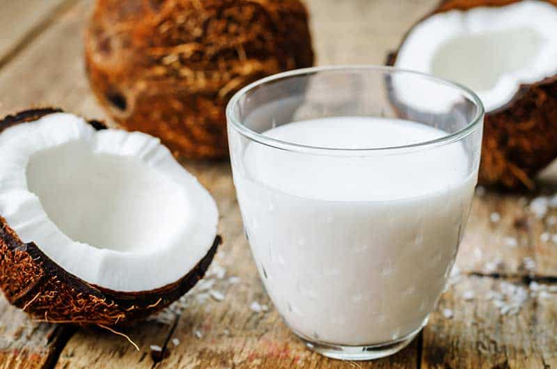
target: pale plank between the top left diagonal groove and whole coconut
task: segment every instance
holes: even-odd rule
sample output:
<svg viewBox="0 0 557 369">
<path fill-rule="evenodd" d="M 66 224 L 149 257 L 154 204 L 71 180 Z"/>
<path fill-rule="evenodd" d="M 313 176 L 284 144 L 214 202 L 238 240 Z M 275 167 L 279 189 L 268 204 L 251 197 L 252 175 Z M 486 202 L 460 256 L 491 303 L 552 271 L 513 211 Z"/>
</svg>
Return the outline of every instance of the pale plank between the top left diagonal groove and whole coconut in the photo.
<svg viewBox="0 0 557 369">
<path fill-rule="evenodd" d="M 0 70 L 0 114 L 30 106 L 62 107 L 107 118 L 89 91 L 83 65 L 83 28 L 93 1 L 80 1 L 61 15 Z"/>
</svg>

